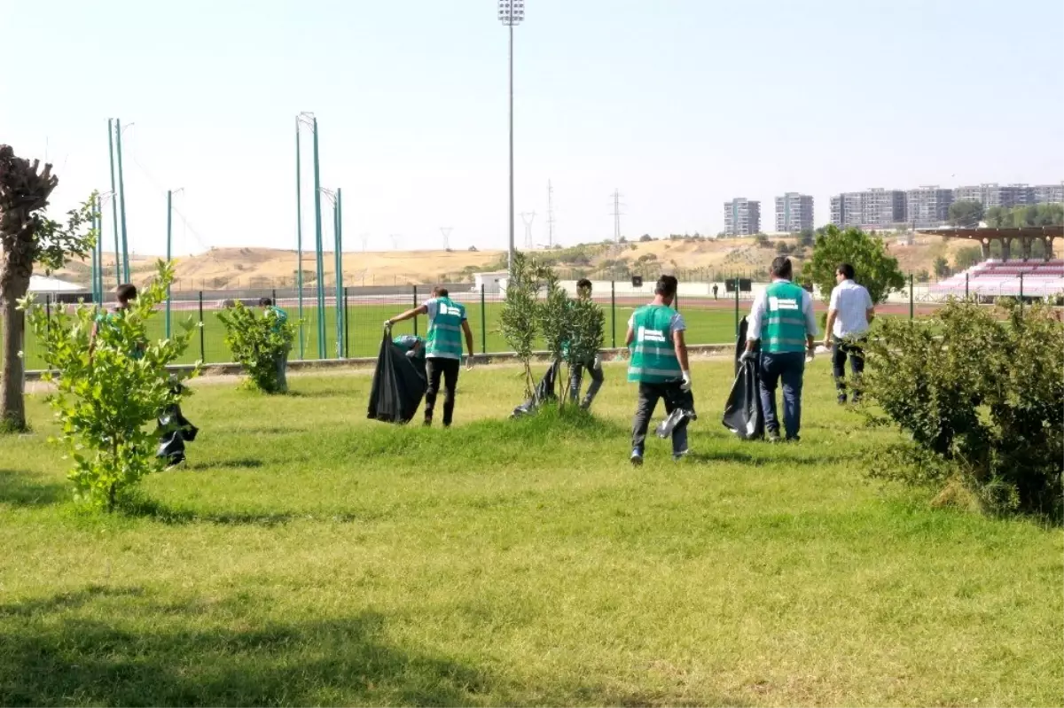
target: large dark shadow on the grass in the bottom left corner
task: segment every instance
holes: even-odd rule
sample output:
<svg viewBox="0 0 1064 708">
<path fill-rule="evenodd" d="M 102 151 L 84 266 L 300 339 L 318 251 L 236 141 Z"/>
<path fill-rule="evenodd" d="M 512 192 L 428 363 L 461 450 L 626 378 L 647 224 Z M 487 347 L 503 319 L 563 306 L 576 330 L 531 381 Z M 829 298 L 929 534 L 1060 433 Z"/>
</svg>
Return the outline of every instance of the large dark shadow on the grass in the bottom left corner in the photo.
<svg viewBox="0 0 1064 708">
<path fill-rule="evenodd" d="M 371 612 L 204 627 L 210 608 L 190 623 L 144 596 L 105 594 L 88 592 L 73 617 L 66 595 L 10 612 L 18 619 L 0 633 L 4 705 L 464 706 L 492 689 L 483 670 L 389 642 Z"/>
</svg>

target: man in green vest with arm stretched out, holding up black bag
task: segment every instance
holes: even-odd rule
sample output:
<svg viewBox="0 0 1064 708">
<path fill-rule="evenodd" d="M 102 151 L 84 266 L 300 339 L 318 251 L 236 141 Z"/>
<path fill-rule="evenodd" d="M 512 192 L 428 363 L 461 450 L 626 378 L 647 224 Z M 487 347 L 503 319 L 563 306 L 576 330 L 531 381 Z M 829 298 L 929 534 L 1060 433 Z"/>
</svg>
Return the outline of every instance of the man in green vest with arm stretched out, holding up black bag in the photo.
<svg viewBox="0 0 1064 708">
<path fill-rule="evenodd" d="M 449 427 L 454 417 L 454 389 L 459 384 L 459 369 L 462 363 L 462 335 L 465 334 L 467 368 L 472 368 L 472 331 L 466 319 L 465 306 L 450 299 L 447 288 L 436 286 L 432 298 L 409 309 L 398 317 L 384 322 L 390 327 L 417 317 L 429 316 L 429 337 L 425 344 L 426 373 L 429 389 L 425 392 L 425 424 L 432 425 L 432 414 L 436 407 L 439 380 L 444 380 L 444 427 Z"/>
</svg>

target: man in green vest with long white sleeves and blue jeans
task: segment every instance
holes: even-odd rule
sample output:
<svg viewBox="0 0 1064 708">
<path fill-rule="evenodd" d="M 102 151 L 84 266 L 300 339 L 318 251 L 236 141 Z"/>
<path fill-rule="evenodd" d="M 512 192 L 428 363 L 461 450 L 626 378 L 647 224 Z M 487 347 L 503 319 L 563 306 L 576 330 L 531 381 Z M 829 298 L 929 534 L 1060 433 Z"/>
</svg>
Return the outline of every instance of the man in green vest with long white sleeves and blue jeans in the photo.
<svg viewBox="0 0 1064 708">
<path fill-rule="evenodd" d="M 813 357 L 814 337 L 818 334 L 813 314 L 813 298 L 791 282 L 791 259 L 772 260 L 772 283 L 753 301 L 743 359 L 757 356 L 761 342 L 761 370 L 758 375 L 761 406 L 765 414 L 765 434 L 769 442 L 780 441 L 780 422 L 776 409 L 776 387 L 783 382 L 783 427 L 788 442 L 797 442 L 801 428 L 801 388 L 805 356 Z"/>
</svg>

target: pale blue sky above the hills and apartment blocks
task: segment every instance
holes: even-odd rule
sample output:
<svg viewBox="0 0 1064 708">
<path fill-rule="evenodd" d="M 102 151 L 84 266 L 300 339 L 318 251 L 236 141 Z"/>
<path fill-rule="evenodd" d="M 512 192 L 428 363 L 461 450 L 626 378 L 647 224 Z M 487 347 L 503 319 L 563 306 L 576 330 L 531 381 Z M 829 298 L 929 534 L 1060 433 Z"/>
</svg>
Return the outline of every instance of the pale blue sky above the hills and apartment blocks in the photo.
<svg viewBox="0 0 1064 708">
<path fill-rule="evenodd" d="M 33 57 L 0 79 L 0 141 L 55 164 L 60 212 L 109 188 L 107 118 L 133 123 L 137 252 L 164 250 L 167 188 L 184 189 L 177 255 L 294 248 L 301 111 L 322 186 L 344 188 L 346 250 L 436 248 L 439 226 L 505 247 L 492 0 L 0 0 L 0 17 L 9 60 Z M 572 243 L 613 235 L 614 188 L 638 236 L 715 233 L 737 196 L 770 218 L 775 196 L 812 193 L 825 222 L 843 190 L 1060 182 L 1061 27 L 1050 0 L 527 0 L 517 210 L 546 241 L 551 180 Z M 309 169 L 304 186 L 313 239 Z"/>
</svg>

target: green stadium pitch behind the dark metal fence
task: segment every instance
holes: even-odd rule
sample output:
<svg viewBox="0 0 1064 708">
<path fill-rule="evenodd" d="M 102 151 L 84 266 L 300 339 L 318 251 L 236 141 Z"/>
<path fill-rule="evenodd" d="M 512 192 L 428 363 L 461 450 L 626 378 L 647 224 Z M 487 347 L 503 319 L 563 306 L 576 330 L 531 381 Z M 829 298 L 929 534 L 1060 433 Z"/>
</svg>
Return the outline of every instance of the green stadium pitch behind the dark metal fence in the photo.
<svg viewBox="0 0 1064 708">
<path fill-rule="evenodd" d="M 381 345 L 381 327 L 384 320 L 398 315 L 410 305 L 351 305 L 348 307 L 347 342 L 350 357 L 377 356 Z M 744 303 L 743 315 L 749 310 L 749 304 Z M 499 333 L 499 317 L 502 311 L 501 303 L 488 303 L 484 307 L 483 317 L 480 304 L 470 304 L 466 308 L 469 324 L 473 331 L 475 345 L 478 353 L 499 353 L 511 351 L 506 347 L 505 340 Z M 611 347 L 614 339 L 613 321 L 611 319 L 610 306 L 606 303 L 605 322 L 605 344 Z M 625 332 L 628 318 L 634 311 L 632 306 L 618 305 L 616 309 L 616 341 L 618 347 L 625 345 Z M 684 317 L 687 318 L 688 343 L 692 344 L 719 344 L 732 341 L 735 338 L 735 314 L 728 309 L 706 309 L 692 305 L 683 309 Z M 293 319 L 297 317 L 295 307 L 288 308 L 288 315 Z M 326 358 L 336 357 L 336 310 L 326 309 Z M 174 310 L 171 316 L 174 332 L 180 332 L 179 322 L 193 321 L 199 319 L 197 311 Z M 318 318 L 317 309 L 304 305 L 303 319 L 303 351 L 307 359 L 318 358 Z M 193 336 L 188 351 L 180 359 L 180 364 L 193 364 L 202 358 L 209 364 L 219 364 L 232 360 L 232 355 L 225 344 L 226 328 L 218 320 L 218 314 L 214 310 L 203 313 L 203 342 L 200 347 L 199 333 Z M 487 326 L 484 327 L 484 324 Z M 428 322 L 418 318 L 418 332 L 426 334 Z M 486 330 L 486 338 L 482 334 Z M 166 334 L 164 318 L 160 315 L 149 322 L 149 333 L 153 337 L 162 338 Z M 413 334 L 414 323 L 412 321 L 401 322 L 394 330 L 396 336 L 401 334 Z M 32 334 L 27 333 L 27 368 L 45 368 L 44 352 Z M 299 344 L 296 343 L 294 358 L 299 356 Z"/>
</svg>

